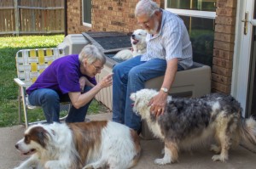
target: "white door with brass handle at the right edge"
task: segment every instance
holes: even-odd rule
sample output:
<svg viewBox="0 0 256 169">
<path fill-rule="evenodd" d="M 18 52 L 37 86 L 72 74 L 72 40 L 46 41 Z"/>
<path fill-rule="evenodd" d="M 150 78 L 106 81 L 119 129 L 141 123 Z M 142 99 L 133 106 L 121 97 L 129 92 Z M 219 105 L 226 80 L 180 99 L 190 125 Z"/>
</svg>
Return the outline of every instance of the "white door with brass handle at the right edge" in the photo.
<svg viewBox="0 0 256 169">
<path fill-rule="evenodd" d="M 256 12 L 254 0 L 240 1 L 236 20 L 236 47 L 231 94 L 243 108 L 243 116 L 256 115 Z"/>
</svg>

